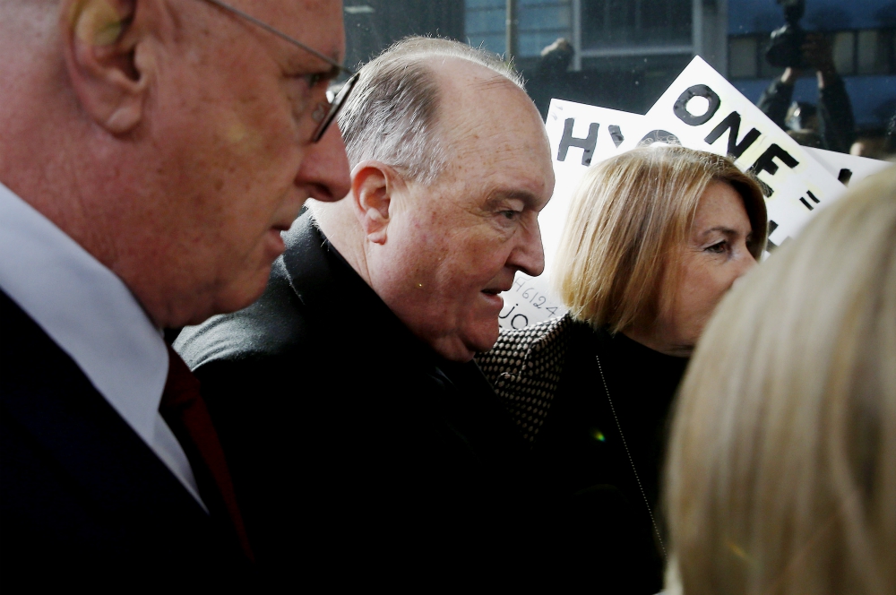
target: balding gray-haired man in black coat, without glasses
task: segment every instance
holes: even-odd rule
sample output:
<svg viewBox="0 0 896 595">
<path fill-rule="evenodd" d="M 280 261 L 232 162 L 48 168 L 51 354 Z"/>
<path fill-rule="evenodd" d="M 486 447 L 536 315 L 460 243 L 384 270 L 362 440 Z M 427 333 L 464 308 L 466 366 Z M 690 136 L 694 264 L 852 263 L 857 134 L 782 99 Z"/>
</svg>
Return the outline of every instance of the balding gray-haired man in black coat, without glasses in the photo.
<svg viewBox="0 0 896 595">
<path fill-rule="evenodd" d="M 176 347 L 260 564 L 497 568 L 531 529 L 511 513 L 528 451 L 472 358 L 514 273 L 544 268 L 544 125 L 496 57 L 412 38 L 364 66 L 340 128 L 348 197 L 297 221 L 261 300 Z"/>
</svg>

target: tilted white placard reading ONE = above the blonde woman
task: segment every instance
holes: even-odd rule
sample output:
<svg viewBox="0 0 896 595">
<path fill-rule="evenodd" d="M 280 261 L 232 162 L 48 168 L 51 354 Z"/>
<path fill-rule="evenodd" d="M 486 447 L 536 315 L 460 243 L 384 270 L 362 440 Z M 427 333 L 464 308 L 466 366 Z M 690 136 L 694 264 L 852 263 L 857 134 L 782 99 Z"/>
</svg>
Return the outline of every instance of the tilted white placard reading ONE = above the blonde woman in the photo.
<svg viewBox="0 0 896 595">
<path fill-rule="evenodd" d="M 701 151 L 730 154 L 762 182 L 769 211 L 769 242 L 796 235 L 813 211 L 845 191 L 813 156 L 740 91 L 695 56 L 647 112 L 647 137 L 674 135 Z M 623 150 L 644 139 L 625 139 Z"/>
</svg>

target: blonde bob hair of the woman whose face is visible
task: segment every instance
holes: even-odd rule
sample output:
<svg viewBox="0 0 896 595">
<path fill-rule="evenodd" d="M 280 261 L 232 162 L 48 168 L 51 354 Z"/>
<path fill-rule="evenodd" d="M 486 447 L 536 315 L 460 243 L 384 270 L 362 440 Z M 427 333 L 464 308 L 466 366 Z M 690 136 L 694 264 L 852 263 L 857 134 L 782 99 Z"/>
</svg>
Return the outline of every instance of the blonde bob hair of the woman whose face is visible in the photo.
<svg viewBox="0 0 896 595">
<path fill-rule="evenodd" d="M 750 254 L 765 249 L 768 221 L 756 181 L 732 160 L 680 146 L 627 151 L 589 168 L 573 193 L 556 254 L 556 284 L 573 317 L 619 332 L 668 314 L 677 262 L 712 182 L 744 199 Z"/>
</svg>

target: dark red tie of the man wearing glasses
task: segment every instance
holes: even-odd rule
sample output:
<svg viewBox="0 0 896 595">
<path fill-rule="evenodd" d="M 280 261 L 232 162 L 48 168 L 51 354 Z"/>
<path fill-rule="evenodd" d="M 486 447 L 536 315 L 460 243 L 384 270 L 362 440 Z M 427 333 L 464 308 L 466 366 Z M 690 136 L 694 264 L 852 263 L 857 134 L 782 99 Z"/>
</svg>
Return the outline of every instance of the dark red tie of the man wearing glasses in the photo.
<svg viewBox="0 0 896 595">
<path fill-rule="evenodd" d="M 224 451 L 218 441 L 218 433 L 211 425 L 209 410 L 202 401 L 199 379 L 170 346 L 168 381 L 162 393 L 159 412 L 184 448 L 199 494 L 208 506 L 211 518 L 228 519 L 229 531 L 235 533 L 243 552 L 254 561 Z"/>
</svg>

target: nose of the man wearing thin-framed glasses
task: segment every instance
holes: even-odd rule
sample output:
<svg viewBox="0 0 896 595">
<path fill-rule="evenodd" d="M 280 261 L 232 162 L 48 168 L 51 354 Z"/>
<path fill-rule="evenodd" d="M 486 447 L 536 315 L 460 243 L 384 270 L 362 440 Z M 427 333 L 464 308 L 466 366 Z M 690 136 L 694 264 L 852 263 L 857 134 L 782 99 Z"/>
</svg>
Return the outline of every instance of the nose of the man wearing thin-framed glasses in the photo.
<svg viewBox="0 0 896 595">
<path fill-rule="evenodd" d="M 335 122 L 318 142 L 308 146 L 296 174 L 296 185 L 318 201 L 332 202 L 349 194 L 351 177 L 345 143 Z"/>
</svg>

